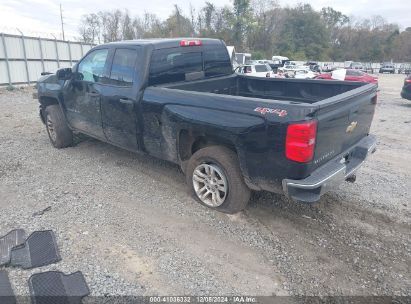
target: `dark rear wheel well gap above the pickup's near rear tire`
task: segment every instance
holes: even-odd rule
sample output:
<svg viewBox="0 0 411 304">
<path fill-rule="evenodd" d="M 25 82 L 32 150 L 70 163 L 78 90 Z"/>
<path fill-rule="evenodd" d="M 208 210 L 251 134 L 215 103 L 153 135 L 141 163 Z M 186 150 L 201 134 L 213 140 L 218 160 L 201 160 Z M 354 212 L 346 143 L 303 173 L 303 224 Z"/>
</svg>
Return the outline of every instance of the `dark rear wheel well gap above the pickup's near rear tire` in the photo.
<svg viewBox="0 0 411 304">
<path fill-rule="evenodd" d="M 198 150 L 208 146 L 224 146 L 237 153 L 235 146 L 229 140 L 204 133 L 182 130 L 179 136 L 179 157 L 181 161 L 187 161 Z"/>
</svg>

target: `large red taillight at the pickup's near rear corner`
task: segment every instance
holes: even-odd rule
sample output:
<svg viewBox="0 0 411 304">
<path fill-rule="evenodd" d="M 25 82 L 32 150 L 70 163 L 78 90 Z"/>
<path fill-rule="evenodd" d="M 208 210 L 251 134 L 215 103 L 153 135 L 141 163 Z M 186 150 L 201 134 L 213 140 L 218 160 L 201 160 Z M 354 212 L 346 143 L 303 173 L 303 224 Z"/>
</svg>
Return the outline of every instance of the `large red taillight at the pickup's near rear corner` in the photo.
<svg viewBox="0 0 411 304">
<path fill-rule="evenodd" d="M 288 125 L 285 139 L 285 156 L 299 163 L 307 163 L 314 157 L 317 121 Z"/>
</svg>

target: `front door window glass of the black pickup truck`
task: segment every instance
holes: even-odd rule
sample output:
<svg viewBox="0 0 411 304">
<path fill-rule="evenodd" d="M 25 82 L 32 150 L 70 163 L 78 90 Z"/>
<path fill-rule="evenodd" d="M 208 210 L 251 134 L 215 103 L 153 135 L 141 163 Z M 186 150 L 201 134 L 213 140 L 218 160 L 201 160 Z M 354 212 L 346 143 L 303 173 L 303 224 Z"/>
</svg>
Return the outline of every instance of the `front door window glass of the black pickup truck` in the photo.
<svg viewBox="0 0 411 304">
<path fill-rule="evenodd" d="M 88 54 L 78 65 L 78 73 L 84 81 L 101 82 L 105 76 L 108 50 L 95 50 Z"/>
</svg>

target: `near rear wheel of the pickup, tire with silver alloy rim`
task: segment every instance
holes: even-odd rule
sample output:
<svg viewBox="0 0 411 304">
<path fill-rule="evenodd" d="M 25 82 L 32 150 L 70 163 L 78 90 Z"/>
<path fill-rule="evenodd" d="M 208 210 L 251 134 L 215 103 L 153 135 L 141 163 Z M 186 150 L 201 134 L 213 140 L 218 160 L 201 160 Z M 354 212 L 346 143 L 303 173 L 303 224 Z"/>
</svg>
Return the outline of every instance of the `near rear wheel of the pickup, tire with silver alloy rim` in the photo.
<svg viewBox="0 0 411 304">
<path fill-rule="evenodd" d="M 209 146 L 195 152 L 187 164 L 186 181 L 200 204 L 220 212 L 240 212 L 250 200 L 237 155 L 226 147 Z"/>
</svg>

